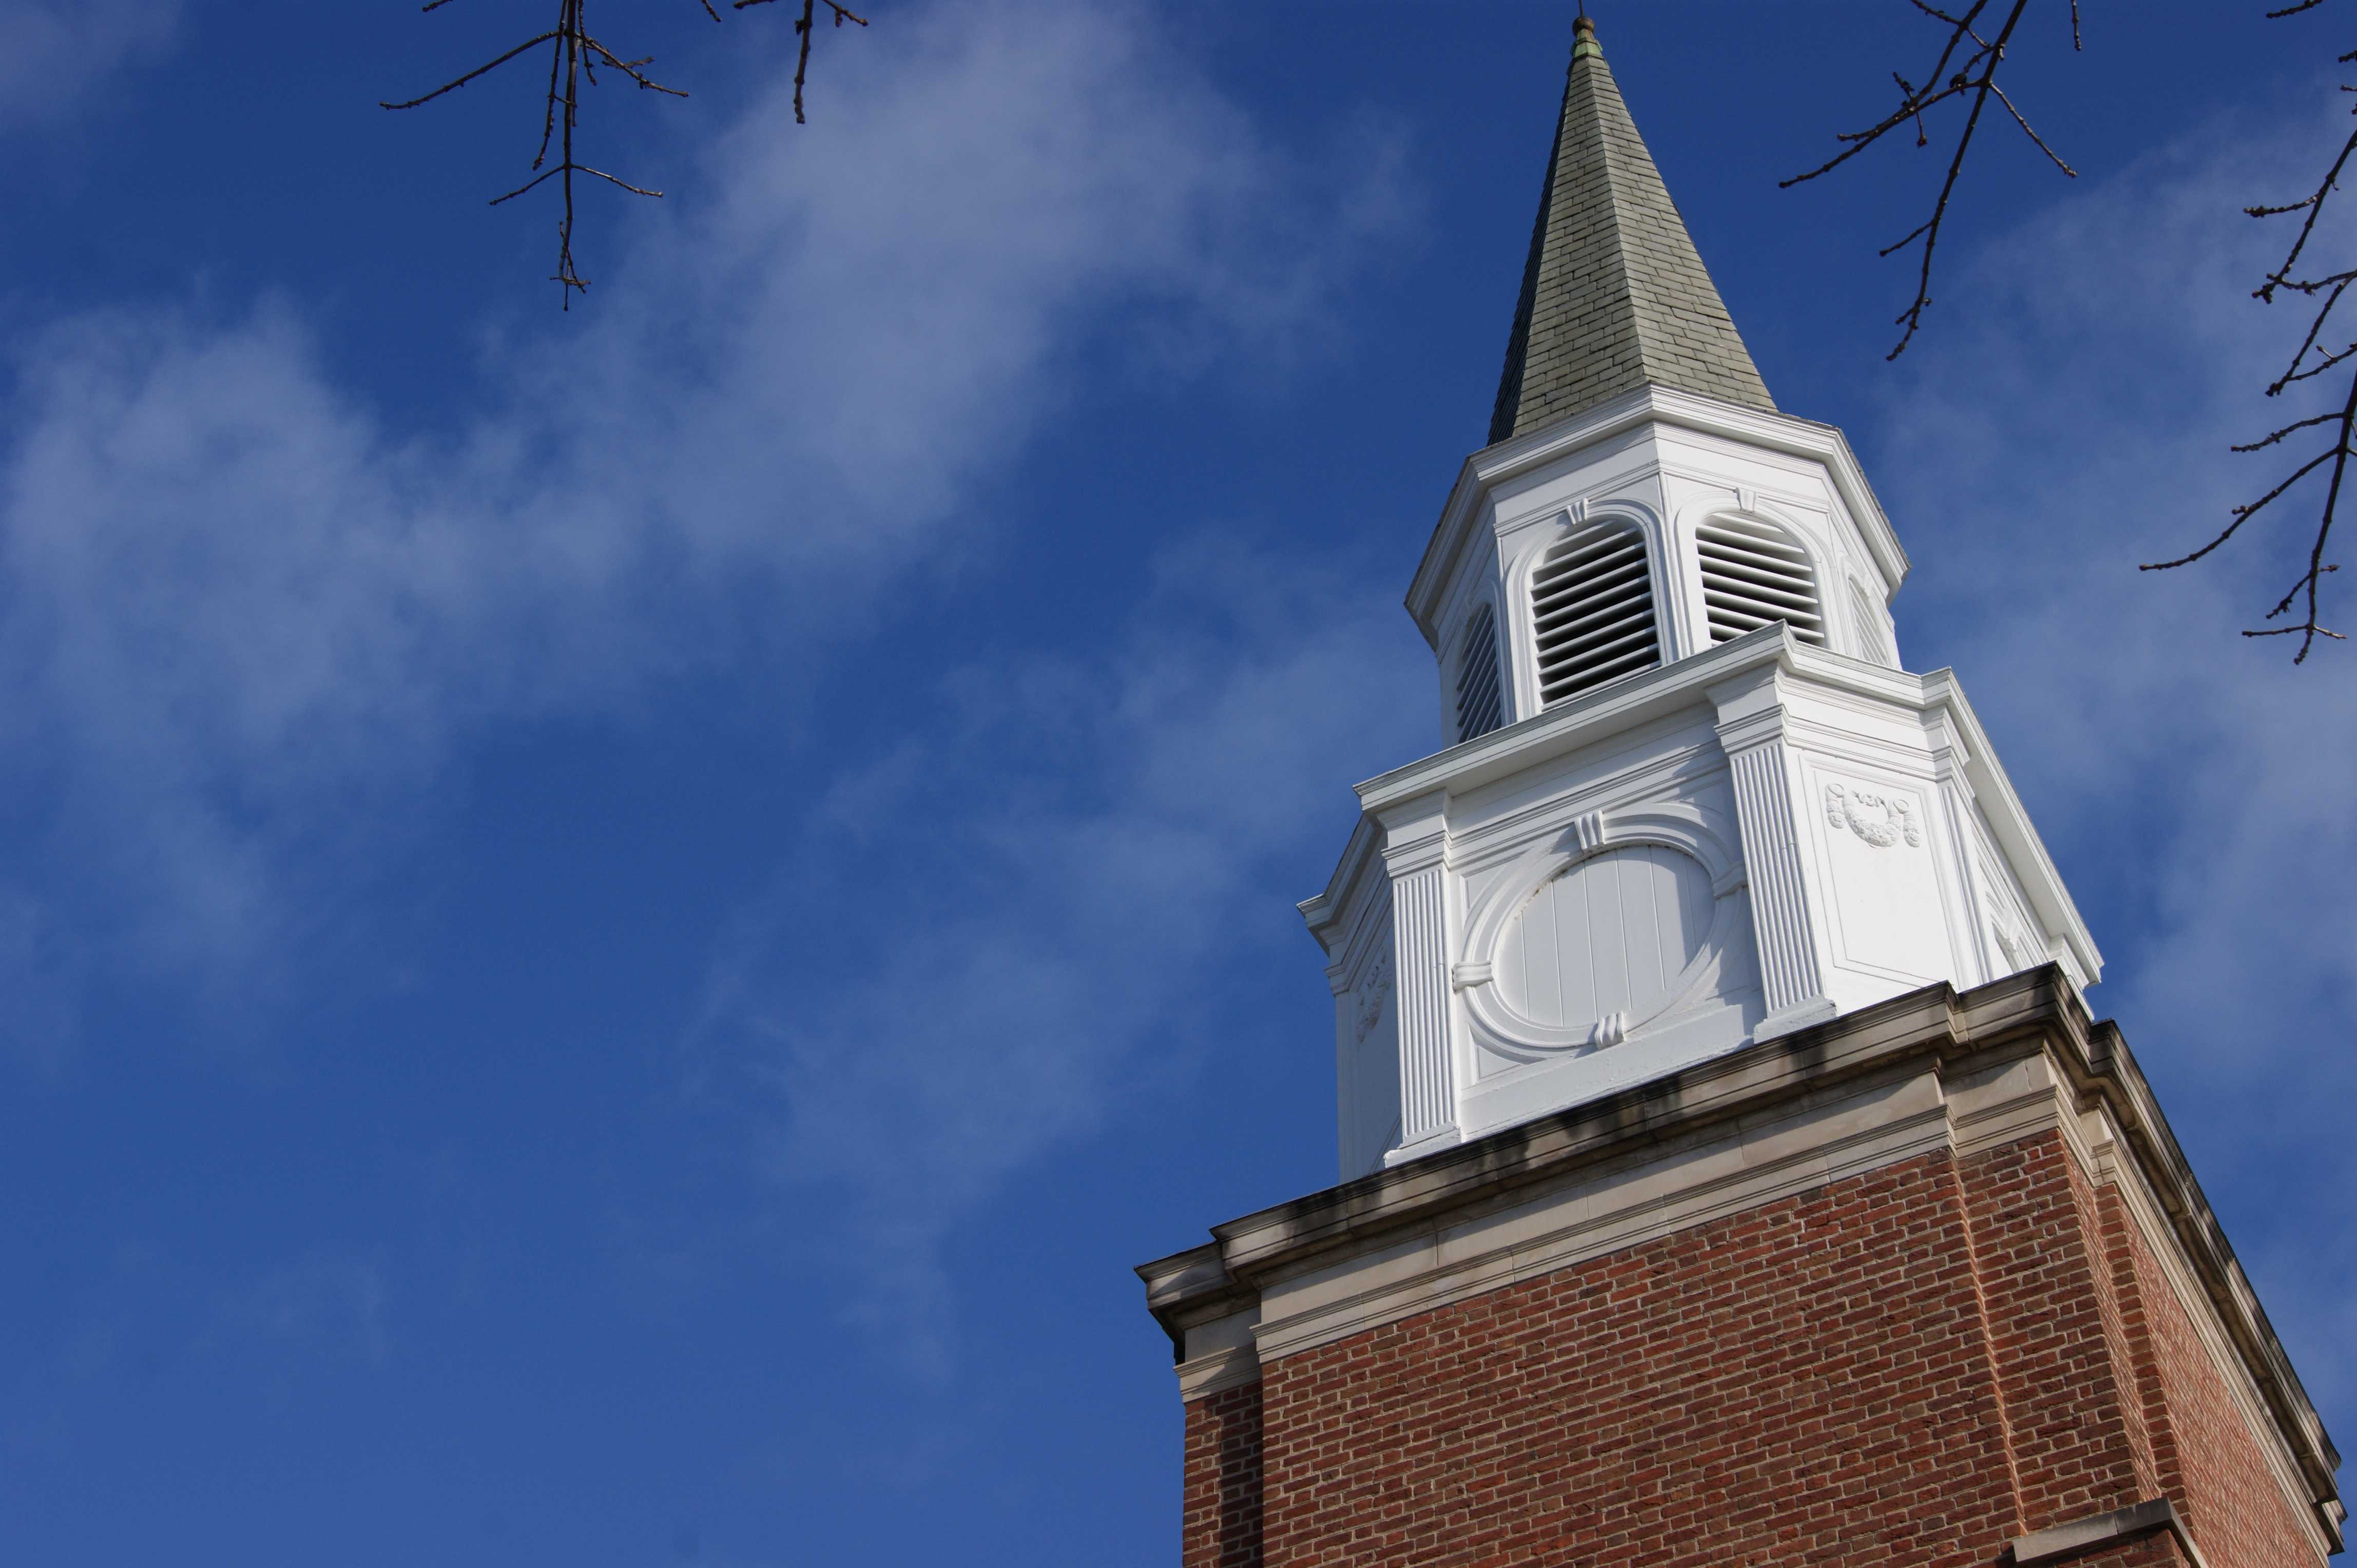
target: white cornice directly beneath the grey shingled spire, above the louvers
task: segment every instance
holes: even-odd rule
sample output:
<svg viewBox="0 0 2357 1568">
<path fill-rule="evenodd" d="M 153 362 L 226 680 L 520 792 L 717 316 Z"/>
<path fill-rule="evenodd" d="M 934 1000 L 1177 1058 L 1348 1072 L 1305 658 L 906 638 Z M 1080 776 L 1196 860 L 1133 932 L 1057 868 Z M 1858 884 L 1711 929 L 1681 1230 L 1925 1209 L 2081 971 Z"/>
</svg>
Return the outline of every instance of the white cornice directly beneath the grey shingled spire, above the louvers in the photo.
<svg viewBox="0 0 2357 1568">
<path fill-rule="evenodd" d="M 1900 584 L 1907 582 L 1907 551 L 1900 549 L 1900 539 L 1890 530 L 1890 518 L 1883 516 L 1883 504 L 1874 499 L 1874 487 L 1867 483 L 1867 471 L 1857 464 L 1857 454 L 1850 452 L 1850 443 L 1838 428 L 1699 393 L 1640 386 L 1612 403 L 1572 414 L 1527 436 L 1483 447 L 1464 461 L 1457 485 L 1450 490 L 1447 506 L 1440 509 L 1440 520 L 1433 525 L 1433 537 L 1424 546 L 1417 577 L 1407 586 L 1407 612 L 1424 631 L 1424 640 L 1435 650 L 1440 647 L 1438 612 L 1450 565 L 1457 560 L 1492 487 L 1645 424 L 1671 424 L 1824 464 L 1834 490 L 1841 494 L 1843 506 L 1848 506 L 1857 523 L 1857 532 L 1867 542 L 1867 551 L 1874 556 L 1874 565 L 1883 574 L 1883 596 L 1897 593 Z"/>
</svg>

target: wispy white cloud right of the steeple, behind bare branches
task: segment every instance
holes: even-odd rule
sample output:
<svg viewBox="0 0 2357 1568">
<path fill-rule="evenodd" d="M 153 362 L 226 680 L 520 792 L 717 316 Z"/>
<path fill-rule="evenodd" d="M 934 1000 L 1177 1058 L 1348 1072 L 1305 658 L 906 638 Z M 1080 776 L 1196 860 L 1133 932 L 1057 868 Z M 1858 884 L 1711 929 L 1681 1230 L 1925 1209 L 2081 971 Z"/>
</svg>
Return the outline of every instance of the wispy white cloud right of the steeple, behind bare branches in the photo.
<svg viewBox="0 0 2357 1568">
<path fill-rule="evenodd" d="M 2206 127 L 1996 247 L 1949 283 L 1973 304 L 1923 344 L 1871 457 L 1919 563 L 1897 610 L 1930 636 L 1909 652 L 1935 645 L 1989 720 L 2098 916 L 2091 1001 L 2331 1401 L 2357 1398 L 2336 1337 L 2357 1264 L 2317 1245 L 2357 1198 L 2357 685 L 2348 645 L 2291 669 L 2284 638 L 2237 636 L 2298 574 L 2322 497 L 2204 565 L 2135 563 L 2289 471 L 2225 450 L 2308 412 L 2258 396 L 2305 313 L 2251 301 L 2286 233 L 2239 210 L 2343 134 L 2345 115 Z"/>
</svg>

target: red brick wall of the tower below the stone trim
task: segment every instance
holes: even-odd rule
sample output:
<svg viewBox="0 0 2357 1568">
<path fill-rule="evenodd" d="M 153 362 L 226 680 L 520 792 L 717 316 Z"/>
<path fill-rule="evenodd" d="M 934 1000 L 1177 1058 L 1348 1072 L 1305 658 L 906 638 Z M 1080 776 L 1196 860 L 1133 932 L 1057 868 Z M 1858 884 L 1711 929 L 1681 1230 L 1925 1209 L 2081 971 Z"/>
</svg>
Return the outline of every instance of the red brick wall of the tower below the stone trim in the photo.
<svg viewBox="0 0 2357 1568">
<path fill-rule="evenodd" d="M 2112 1203 L 1930 1154 L 1299 1351 L 1188 1408 L 1186 1568 L 1980 1568 L 2154 1495 L 2315 1561 Z"/>
</svg>

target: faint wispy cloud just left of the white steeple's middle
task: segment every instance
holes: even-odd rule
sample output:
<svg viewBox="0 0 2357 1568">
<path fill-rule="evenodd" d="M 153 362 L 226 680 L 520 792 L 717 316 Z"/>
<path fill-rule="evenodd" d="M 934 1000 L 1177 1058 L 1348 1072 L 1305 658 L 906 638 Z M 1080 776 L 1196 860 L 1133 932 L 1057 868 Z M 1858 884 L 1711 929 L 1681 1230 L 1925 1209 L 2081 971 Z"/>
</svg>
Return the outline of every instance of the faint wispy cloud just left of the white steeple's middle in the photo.
<svg viewBox="0 0 2357 1568">
<path fill-rule="evenodd" d="M 1221 965 L 1315 984 L 1287 909 L 1313 885 L 1273 871 L 1339 852 L 1348 784 L 1435 744 L 1400 704 L 1428 669 L 1388 591 L 1197 539 L 1101 659 L 969 669 L 837 784 L 702 1045 L 780 1107 L 773 1172 L 851 1194 L 858 1316 L 943 1366 L 936 1243 L 1153 1078 L 1150 1045 L 1233 1026 Z"/>
</svg>

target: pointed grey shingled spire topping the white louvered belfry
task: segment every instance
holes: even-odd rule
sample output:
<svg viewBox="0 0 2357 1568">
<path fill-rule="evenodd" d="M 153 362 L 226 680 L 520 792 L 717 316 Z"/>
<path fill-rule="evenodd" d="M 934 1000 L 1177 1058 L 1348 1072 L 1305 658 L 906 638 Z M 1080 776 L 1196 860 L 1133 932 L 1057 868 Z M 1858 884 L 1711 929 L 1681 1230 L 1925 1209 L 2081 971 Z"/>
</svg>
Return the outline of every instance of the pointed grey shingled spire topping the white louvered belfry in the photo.
<svg viewBox="0 0 2357 1568">
<path fill-rule="evenodd" d="M 1648 381 L 1775 407 L 1582 14 L 1490 440 Z"/>
</svg>

